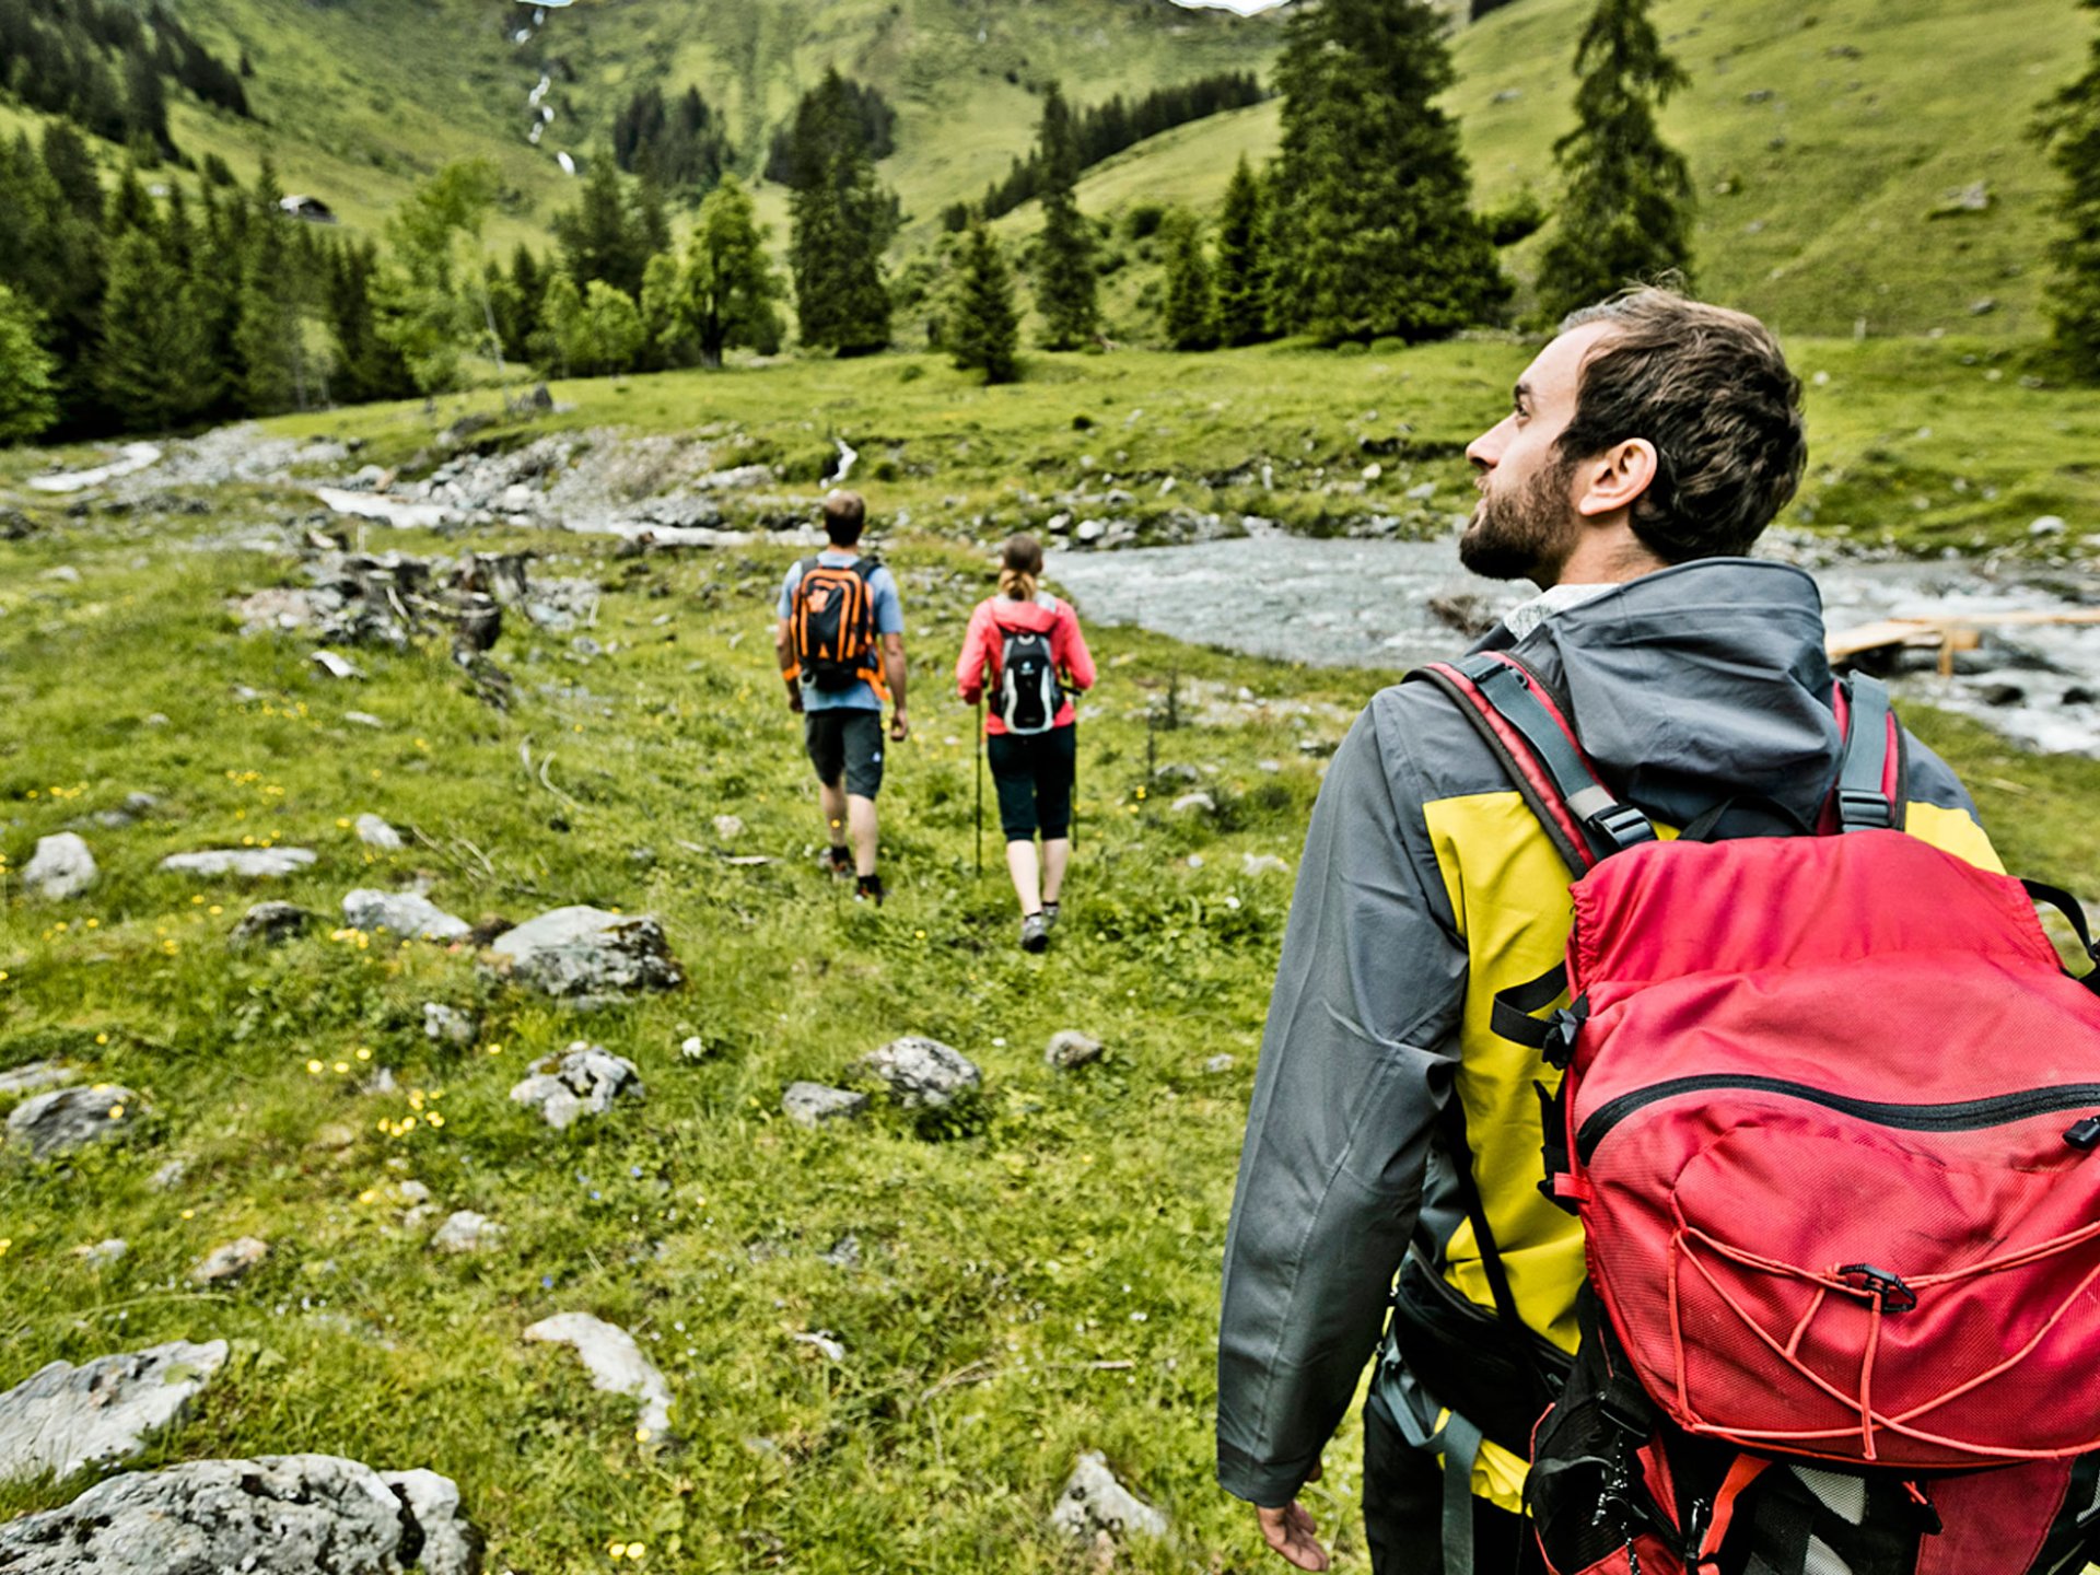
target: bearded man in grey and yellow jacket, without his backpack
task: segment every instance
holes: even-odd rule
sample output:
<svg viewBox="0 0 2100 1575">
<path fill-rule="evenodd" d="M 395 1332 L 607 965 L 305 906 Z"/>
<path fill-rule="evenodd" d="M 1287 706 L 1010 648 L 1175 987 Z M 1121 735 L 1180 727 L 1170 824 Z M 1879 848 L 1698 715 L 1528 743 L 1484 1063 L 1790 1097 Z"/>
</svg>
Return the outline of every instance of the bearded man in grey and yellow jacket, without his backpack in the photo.
<svg viewBox="0 0 2100 1575">
<path fill-rule="evenodd" d="M 1466 456 L 1462 561 L 1539 588 L 1476 649 L 1554 693 L 1613 794 L 1678 827 L 1720 811 L 1720 836 L 1814 825 L 1844 750 L 1823 609 L 1747 556 L 1806 462 L 1770 332 L 1665 290 L 1581 311 Z M 1905 830 L 1997 867 L 1953 773 L 1915 739 L 1900 760 Z M 1567 886 L 1474 718 L 1430 682 L 1371 699 L 1306 836 L 1224 1258 L 1218 1480 L 1298 1569 L 1327 1567 L 1298 1491 L 1373 1348 L 1371 1567 L 1533 1554 L 1525 1449 L 1583 1250 L 1537 1189 L 1556 1073 L 1495 1031 L 1495 995 L 1560 962 Z"/>
</svg>

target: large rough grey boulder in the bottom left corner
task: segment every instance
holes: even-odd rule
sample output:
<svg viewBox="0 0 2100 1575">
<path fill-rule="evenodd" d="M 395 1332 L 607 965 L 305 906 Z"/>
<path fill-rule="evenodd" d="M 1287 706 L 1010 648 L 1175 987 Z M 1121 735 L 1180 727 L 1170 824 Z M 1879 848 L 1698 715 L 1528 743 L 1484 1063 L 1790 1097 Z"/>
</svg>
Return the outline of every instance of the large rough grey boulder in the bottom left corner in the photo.
<svg viewBox="0 0 2100 1575">
<path fill-rule="evenodd" d="M 8 1575 L 477 1575 L 481 1537 L 435 1472 L 336 1455 L 193 1460 L 0 1525 Z"/>
</svg>

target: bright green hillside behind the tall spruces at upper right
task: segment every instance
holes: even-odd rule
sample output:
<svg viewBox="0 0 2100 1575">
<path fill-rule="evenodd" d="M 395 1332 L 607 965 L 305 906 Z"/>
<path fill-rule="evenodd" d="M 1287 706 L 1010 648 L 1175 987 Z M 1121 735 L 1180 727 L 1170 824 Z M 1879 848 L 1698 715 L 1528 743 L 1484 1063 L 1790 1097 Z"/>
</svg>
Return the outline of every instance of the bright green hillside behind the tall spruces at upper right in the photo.
<svg viewBox="0 0 2100 1575">
<path fill-rule="evenodd" d="M 1573 124 L 1569 71 L 1588 13 L 1590 0 L 1520 0 L 1453 40 L 1449 107 L 1483 204 L 1527 185 L 1552 200 L 1552 143 Z M 1903 0 L 1804 17 L 1785 0 L 1657 0 L 1655 19 L 1693 76 L 1663 132 L 1701 195 L 1705 294 L 1796 334 L 1848 334 L 1856 319 L 1873 334 L 2039 330 L 2056 181 L 2024 132 L 2035 105 L 2077 71 L 2090 23 L 2073 6 Z M 1504 94 L 1514 97 L 1497 103 Z M 1147 143 L 1092 172 L 1082 204 L 1212 208 L 1239 151 L 1273 147 L 1275 122 L 1277 105 L 1262 105 Z M 1991 212 L 1928 216 L 1951 189 L 1984 178 Z M 1724 181 L 1732 195 L 1718 195 Z M 1035 223 L 1031 210 L 1023 229 Z M 1514 252 L 1518 275 L 1535 248 Z M 1984 298 L 1997 311 L 1972 317 Z"/>
</svg>

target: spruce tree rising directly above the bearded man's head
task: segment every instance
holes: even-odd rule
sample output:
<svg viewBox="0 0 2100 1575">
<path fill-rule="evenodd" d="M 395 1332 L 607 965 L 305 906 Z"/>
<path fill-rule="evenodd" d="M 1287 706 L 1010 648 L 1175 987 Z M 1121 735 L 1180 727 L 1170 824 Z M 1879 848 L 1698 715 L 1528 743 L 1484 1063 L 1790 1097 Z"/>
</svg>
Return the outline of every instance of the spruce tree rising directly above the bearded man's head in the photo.
<svg viewBox="0 0 2100 1575">
<path fill-rule="evenodd" d="M 1575 130 L 1554 143 L 1567 191 L 1539 256 L 1548 319 L 1632 281 L 1688 275 L 1693 260 L 1693 176 L 1655 126 L 1690 78 L 1663 52 L 1648 0 L 1598 0 L 1575 74 Z"/>
</svg>

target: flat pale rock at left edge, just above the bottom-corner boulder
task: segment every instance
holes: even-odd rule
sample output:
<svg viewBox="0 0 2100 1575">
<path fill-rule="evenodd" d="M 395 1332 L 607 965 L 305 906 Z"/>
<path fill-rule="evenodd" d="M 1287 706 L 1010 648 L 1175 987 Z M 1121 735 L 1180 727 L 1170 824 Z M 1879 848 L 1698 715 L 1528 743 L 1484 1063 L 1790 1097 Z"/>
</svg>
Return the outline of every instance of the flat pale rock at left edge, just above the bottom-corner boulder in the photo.
<svg viewBox="0 0 2100 1575">
<path fill-rule="evenodd" d="M 174 1340 L 80 1367 L 40 1367 L 0 1394 L 0 1483 L 130 1460 L 151 1434 L 181 1420 L 225 1361 L 225 1340 Z"/>
</svg>

